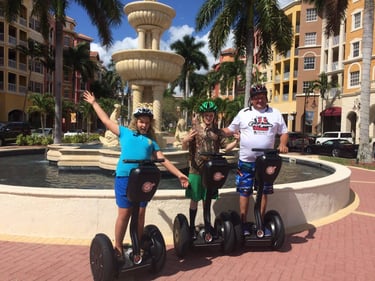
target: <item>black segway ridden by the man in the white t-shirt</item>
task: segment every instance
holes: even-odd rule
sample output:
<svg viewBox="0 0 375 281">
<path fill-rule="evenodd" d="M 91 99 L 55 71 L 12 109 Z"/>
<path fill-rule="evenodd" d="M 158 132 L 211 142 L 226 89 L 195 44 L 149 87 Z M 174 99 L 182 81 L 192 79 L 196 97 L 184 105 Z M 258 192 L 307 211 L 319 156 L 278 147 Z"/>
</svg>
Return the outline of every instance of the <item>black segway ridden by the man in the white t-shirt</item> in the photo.
<svg viewBox="0 0 375 281">
<path fill-rule="evenodd" d="M 278 250 L 282 247 L 285 240 L 283 220 L 280 214 L 275 210 L 266 212 L 263 220 L 260 214 L 260 207 L 264 184 L 274 183 L 280 172 L 282 159 L 277 149 L 254 148 L 253 151 L 261 151 L 264 153 L 256 158 L 255 163 L 255 188 L 257 189 L 254 204 L 255 222 L 248 222 L 250 235 L 244 236 L 239 214 L 235 211 L 230 212 L 236 234 L 236 245 L 237 247 L 245 245 L 251 247 L 268 247 L 273 250 Z M 271 231 L 270 236 L 265 236 L 265 227 Z"/>
</svg>

